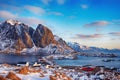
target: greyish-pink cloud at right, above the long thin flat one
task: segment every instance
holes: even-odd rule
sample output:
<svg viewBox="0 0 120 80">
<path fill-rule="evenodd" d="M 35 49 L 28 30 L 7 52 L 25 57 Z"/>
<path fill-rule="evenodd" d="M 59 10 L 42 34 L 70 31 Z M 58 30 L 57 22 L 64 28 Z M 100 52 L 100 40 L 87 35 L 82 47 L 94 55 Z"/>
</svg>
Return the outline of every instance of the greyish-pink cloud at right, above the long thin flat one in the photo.
<svg viewBox="0 0 120 80">
<path fill-rule="evenodd" d="M 97 21 L 97 22 L 91 22 L 88 24 L 85 24 L 84 27 L 100 27 L 100 26 L 106 26 L 110 24 L 108 21 Z"/>
</svg>

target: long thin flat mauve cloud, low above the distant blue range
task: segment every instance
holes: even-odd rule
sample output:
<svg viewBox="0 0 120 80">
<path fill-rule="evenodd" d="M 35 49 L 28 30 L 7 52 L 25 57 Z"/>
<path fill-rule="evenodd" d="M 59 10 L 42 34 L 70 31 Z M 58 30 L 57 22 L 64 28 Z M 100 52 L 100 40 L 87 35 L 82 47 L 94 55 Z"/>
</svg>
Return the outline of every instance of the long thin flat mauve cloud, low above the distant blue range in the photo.
<svg viewBox="0 0 120 80">
<path fill-rule="evenodd" d="M 103 37 L 103 34 L 92 34 L 92 35 L 84 35 L 84 34 L 76 34 L 74 38 L 77 39 L 95 39 Z"/>
</svg>

